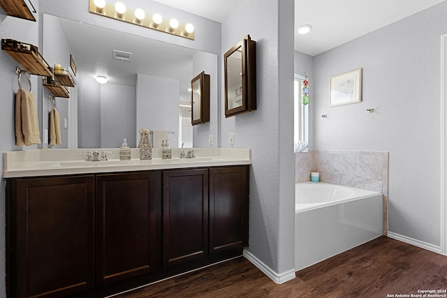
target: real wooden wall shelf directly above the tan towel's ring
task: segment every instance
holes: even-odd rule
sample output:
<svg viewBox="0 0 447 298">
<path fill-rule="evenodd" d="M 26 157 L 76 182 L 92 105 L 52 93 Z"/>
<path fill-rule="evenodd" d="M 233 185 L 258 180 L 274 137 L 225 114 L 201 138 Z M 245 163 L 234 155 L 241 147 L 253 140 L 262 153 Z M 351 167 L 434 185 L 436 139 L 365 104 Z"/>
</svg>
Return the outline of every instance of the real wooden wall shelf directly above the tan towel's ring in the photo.
<svg viewBox="0 0 447 298">
<path fill-rule="evenodd" d="M 1 1 L 1 0 L 0 0 Z M 13 39 L 2 39 L 1 50 L 6 51 L 31 75 L 52 76 L 52 68 L 38 52 L 38 47 Z"/>
</svg>

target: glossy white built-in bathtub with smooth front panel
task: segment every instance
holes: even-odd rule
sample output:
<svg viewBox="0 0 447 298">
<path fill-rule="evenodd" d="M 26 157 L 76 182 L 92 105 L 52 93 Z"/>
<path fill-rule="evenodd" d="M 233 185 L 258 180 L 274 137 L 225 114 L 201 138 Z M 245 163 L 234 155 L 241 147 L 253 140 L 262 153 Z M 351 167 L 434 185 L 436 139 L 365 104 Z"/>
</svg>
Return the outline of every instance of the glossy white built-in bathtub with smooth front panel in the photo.
<svg viewBox="0 0 447 298">
<path fill-rule="evenodd" d="M 382 234 L 382 193 L 335 184 L 295 184 L 295 270 Z"/>
</svg>

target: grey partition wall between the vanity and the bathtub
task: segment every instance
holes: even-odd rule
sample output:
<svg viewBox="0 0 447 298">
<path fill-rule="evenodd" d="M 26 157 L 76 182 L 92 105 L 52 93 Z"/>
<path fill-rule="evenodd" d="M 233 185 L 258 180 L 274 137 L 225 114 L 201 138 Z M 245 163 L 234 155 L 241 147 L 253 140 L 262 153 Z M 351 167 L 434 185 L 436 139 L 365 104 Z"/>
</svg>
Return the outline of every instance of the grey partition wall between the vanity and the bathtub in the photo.
<svg viewBox="0 0 447 298">
<path fill-rule="evenodd" d="M 251 148 L 248 251 L 279 279 L 293 271 L 295 258 L 293 3 L 245 0 L 222 23 L 222 57 L 247 34 L 256 40 L 258 110 L 224 118 L 222 89 L 220 144 L 228 147 L 233 131 L 234 147 Z"/>
</svg>

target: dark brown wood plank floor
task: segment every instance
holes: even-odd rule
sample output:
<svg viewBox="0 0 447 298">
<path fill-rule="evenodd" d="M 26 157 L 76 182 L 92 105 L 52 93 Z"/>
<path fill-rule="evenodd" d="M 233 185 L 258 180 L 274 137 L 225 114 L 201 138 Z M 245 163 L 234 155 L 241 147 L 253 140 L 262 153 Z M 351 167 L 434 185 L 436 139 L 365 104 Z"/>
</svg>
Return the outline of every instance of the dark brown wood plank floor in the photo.
<svg viewBox="0 0 447 298">
<path fill-rule="evenodd" d="M 282 285 L 245 258 L 237 258 L 115 297 L 381 298 L 422 294 L 418 290 L 447 294 L 442 292 L 447 290 L 447 257 L 379 237 L 298 271 L 295 279 Z"/>
</svg>

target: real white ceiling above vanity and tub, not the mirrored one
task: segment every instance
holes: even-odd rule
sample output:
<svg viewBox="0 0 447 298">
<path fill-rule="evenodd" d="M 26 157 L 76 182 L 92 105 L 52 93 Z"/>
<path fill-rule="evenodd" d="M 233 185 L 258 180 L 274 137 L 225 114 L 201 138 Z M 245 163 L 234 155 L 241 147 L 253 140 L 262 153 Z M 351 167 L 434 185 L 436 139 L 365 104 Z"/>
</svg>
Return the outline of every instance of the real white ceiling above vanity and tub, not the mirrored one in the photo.
<svg viewBox="0 0 447 298">
<path fill-rule="evenodd" d="M 222 22 L 243 0 L 154 0 Z M 295 0 L 295 50 L 316 56 L 445 0 Z"/>
</svg>

